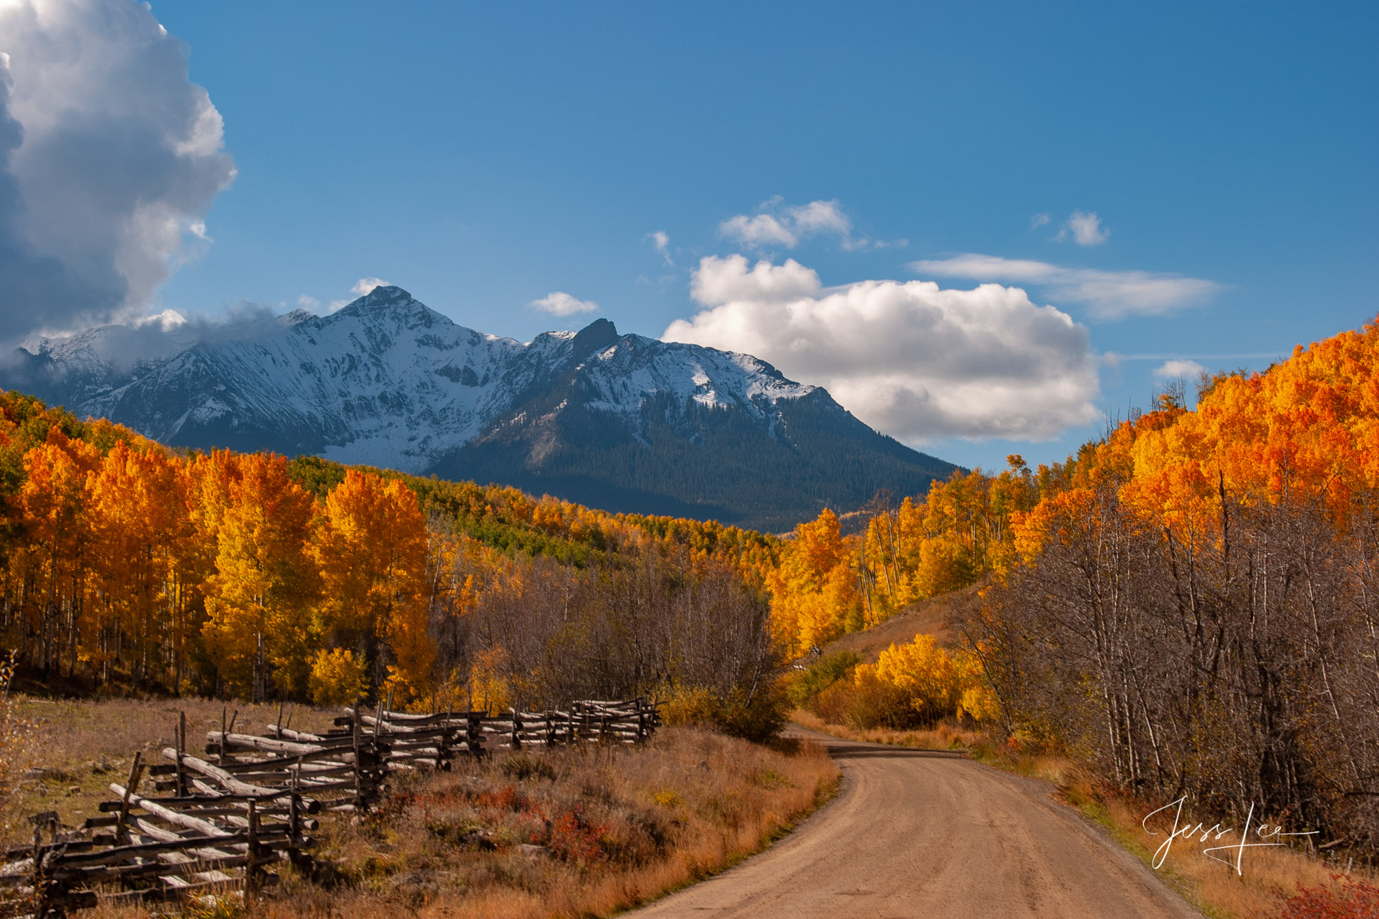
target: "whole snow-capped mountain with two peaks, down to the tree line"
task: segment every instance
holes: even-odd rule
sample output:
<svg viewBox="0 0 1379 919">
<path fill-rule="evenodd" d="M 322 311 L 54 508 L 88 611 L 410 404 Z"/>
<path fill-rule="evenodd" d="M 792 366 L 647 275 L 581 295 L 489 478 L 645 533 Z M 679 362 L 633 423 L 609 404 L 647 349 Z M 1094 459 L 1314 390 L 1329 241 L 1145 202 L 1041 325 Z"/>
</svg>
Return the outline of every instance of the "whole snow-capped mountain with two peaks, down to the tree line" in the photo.
<svg viewBox="0 0 1379 919">
<path fill-rule="evenodd" d="M 106 326 L 40 339 L 0 378 L 174 446 L 312 453 L 772 528 L 953 469 L 749 355 L 619 335 L 607 320 L 519 342 L 400 287 L 210 335 Z"/>
</svg>

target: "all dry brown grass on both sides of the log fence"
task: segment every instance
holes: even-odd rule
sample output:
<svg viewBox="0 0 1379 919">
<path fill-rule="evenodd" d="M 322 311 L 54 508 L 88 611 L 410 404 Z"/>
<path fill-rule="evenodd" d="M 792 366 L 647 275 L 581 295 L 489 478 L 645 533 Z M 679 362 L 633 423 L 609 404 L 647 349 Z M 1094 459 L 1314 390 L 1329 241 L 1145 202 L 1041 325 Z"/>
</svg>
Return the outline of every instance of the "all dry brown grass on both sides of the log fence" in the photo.
<svg viewBox="0 0 1379 919">
<path fill-rule="evenodd" d="M 69 778 L 30 780 L 15 810 L 58 810 L 80 824 L 123 781 L 132 752 L 172 742 L 179 711 L 188 734 L 219 729 L 218 702 L 199 700 L 47 702 L 44 766 Z M 241 706 L 239 724 L 262 730 L 276 706 Z M 294 727 L 331 712 L 298 712 Z M 503 752 L 455 771 L 394 778 L 383 809 L 323 818 L 325 865 L 308 880 L 285 869 L 255 916 L 600 916 L 633 908 L 723 871 L 789 832 L 837 788 L 822 747 L 771 747 L 690 727 L 662 729 L 637 748 L 589 745 L 550 753 Z M 70 791 L 76 788 L 76 791 Z M 22 821 L 18 821 L 22 827 Z M 21 831 L 22 832 L 22 831 Z M 234 916 L 226 898 L 189 915 Z M 102 907 L 92 916 L 134 919 Z"/>
</svg>

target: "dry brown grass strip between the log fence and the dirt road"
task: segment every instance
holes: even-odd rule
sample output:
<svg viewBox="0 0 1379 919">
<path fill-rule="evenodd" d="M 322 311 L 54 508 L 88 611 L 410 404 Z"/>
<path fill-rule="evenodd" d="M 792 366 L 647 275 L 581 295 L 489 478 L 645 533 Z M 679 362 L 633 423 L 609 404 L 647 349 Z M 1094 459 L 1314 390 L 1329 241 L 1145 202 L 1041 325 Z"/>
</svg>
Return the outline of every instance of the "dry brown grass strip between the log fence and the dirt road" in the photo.
<svg viewBox="0 0 1379 919">
<path fill-rule="evenodd" d="M 338 825 L 323 851 L 336 887 L 288 885 L 263 915 L 608 915 L 758 851 L 837 775 L 814 744 L 769 749 L 685 727 L 640 749 L 505 753 Z"/>
</svg>

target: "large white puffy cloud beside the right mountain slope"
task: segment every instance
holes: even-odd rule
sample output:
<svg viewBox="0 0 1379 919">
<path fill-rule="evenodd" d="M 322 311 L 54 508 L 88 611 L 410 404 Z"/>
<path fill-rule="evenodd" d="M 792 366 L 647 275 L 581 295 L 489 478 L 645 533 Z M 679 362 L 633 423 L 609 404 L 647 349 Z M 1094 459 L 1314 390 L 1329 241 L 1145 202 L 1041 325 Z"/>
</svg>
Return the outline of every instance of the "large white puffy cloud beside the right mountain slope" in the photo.
<svg viewBox="0 0 1379 919">
<path fill-rule="evenodd" d="M 910 443 L 1044 439 L 1098 418 L 1087 328 L 1023 290 L 865 280 L 825 288 L 798 262 L 699 262 L 705 306 L 662 338 L 739 350 L 822 384 L 869 425 Z"/>
</svg>

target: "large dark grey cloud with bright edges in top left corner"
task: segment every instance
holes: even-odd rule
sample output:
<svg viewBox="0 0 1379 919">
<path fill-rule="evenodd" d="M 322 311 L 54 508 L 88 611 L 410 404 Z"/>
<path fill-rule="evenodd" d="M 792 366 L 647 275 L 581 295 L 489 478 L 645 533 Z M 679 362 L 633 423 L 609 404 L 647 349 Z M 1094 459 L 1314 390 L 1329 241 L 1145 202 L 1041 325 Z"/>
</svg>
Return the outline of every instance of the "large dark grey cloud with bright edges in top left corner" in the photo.
<svg viewBox="0 0 1379 919">
<path fill-rule="evenodd" d="M 234 177 L 186 52 L 143 4 L 0 4 L 0 338 L 130 320 L 208 243 Z"/>
</svg>

